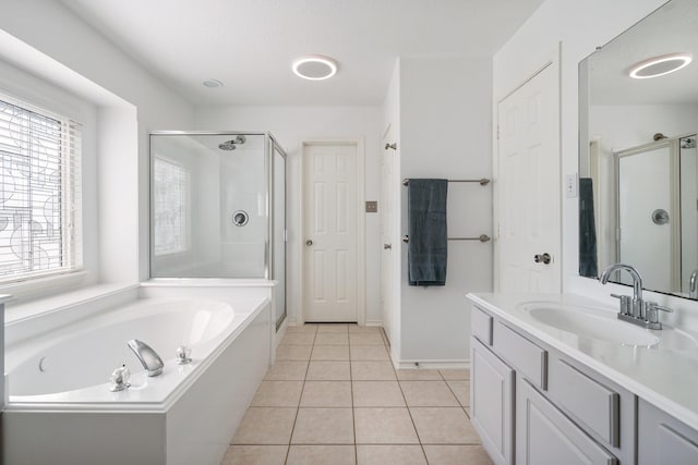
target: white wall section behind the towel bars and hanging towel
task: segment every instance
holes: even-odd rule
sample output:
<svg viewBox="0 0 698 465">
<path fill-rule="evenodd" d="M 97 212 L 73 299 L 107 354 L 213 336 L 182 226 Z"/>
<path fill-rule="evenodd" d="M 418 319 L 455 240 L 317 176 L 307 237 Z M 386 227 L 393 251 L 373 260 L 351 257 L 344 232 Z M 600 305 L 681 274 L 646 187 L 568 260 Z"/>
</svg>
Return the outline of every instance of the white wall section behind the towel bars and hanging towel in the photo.
<svg viewBox="0 0 698 465">
<path fill-rule="evenodd" d="M 492 176 L 491 65 L 490 58 L 400 59 L 400 179 Z M 407 188 L 400 198 L 401 235 Z M 492 236 L 491 185 L 449 183 L 447 208 L 449 236 Z M 492 291 L 492 242 L 449 241 L 443 287 L 407 285 L 407 246 L 401 249 L 399 362 L 466 362 L 465 295 Z"/>
</svg>

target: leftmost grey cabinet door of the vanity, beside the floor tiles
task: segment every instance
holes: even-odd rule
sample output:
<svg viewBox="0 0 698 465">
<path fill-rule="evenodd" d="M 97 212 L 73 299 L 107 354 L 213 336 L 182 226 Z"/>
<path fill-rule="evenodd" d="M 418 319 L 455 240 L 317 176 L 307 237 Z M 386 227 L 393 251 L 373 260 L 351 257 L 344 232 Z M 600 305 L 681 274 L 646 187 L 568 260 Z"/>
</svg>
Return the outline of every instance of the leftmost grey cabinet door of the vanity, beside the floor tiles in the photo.
<svg viewBox="0 0 698 465">
<path fill-rule="evenodd" d="M 470 338 L 470 419 L 492 461 L 514 464 L 514 370 Z"/>
</svg>

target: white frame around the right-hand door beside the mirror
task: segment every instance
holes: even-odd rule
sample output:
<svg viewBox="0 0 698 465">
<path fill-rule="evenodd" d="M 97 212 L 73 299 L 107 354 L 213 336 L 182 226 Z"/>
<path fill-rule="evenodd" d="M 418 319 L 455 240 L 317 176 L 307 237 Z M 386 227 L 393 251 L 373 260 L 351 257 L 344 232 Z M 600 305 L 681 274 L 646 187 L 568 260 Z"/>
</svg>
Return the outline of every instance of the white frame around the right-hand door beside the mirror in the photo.
<svg viewBox="0 0 698 465">
<path fill-rule="evenodd" d="M 529 68 L 526 72 L 526 74 L 521 73 L 522 76 L 520 79 L 518 79 L 518 84 L 516 84 L 514 87 L 512 87 L 508 91 L 506 91 L 504 95 L 502 95 L 501 97 L 495 97 L 493 99 L 493 111 L 492 111 L 492 117 L 493 117 L 493 125 L 494 125 L 494 131 L 493 131 L 493 140 L 492 140 L 492 147 L 493 147 L 493 151 L 492 151 L 492 179 L 493 179 L 493 188 L 492 188 L 492 204 L 493 204 L 493 208 L 492 208 L 492 213 L 493 213 L 493 220 L 494 220 L 494 241 L 493 241 L 493 290 L 494 292 L 500 292 L 500 272 L 501 272 L 501 265 L 500 265 L 500 223 L 501 223 L 501 219 L 500 219 L 500 105 L 506 100 L 508 97 L 510 97 L 513 94 L 515 94 L 518 89 L 520 89 L 521 87 L 524 87 L 526 84 L 528 84 L 531 79 L 533 79 L 535 76 L 538 76 L 540 73 L 542 73 L 544 70 L 546 70 L 547 68 L 550 68 L 551 65 L 555 65 L 557 66 L 557 124 L 556 124 L 556 129 L 557 129 L 557 152 L 562 154 L 562 44 L 558 42 L 557 46 L 555 47 L 554 50 L 552 50 L 544 60 L 539 61 L 535 65 Z M 534 70 L 533 72 L 531 72 L 530 70 Z M 561 155 L 562 157 L 562 155 Z M 563 194 L 563 186 L 562 186 L 562 180 L 563 180 L 563 160 L 561 158 L 559 161 L 559 167 L 558 167 L 558 180 L 559 180 L 559 185 L 558 185 L 558 195 L 559 195 L 559 206 L 558 206 L 558 237 L 556 240 L 557 244 L 557 257 L 555 257 L 556 260 L 559 261 L 559 286 L 561 286 L 561 292 L 562 289 L 564 287 L 563 285 L 563 268 L 564 268 L 564 261 L 563 261 L 563 198 L 562 198 L 562 194 Z"/>
</svg>

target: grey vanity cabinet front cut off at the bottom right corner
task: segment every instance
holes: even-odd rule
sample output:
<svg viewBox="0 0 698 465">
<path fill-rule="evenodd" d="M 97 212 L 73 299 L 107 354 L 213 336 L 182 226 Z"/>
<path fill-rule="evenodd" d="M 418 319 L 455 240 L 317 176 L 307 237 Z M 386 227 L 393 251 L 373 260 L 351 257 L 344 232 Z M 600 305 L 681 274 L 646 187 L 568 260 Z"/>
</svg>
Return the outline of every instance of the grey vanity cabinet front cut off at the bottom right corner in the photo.
<svg viewBox="0 0 698 465">
<path fill-rule="evenodd" d="M 698 464 L 698 431 L 638 401 L 638 465 Z"/>
</svg>

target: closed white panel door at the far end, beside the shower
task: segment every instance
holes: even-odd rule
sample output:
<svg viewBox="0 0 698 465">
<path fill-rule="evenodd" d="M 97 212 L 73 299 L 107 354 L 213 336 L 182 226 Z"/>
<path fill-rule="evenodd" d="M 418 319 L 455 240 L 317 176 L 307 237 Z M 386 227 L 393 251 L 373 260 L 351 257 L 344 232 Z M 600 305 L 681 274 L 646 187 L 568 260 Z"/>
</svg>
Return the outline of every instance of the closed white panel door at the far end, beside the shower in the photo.
<svg viewBox="0 0 698 465">
<path fill-rule="evenodd" d="M 303 180 L 305 321 L 357 321 L 357 146 L 309 145 Z"/>
</svg>

